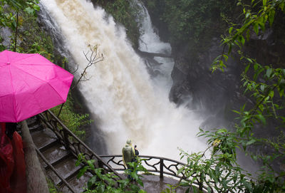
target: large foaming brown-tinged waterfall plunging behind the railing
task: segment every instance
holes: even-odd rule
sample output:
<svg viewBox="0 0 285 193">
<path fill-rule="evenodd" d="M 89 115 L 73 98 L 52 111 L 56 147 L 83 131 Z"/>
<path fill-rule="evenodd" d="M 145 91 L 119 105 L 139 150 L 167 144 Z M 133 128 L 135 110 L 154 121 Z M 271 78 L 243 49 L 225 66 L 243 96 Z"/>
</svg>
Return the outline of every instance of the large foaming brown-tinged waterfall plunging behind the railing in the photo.
<svg viewBox="0 0 285 193">
<path fill-rule="evenodd" d="M 93 8 L 86 0 L 41 0 L 41 3 L 60 26 L 65 48 L 79 65 L 76 78 L 87 64 L 83 51 L 87 53 L 89 45 L 98 45 L 104 56 L 102 62 L 88 68 L 87 75 L 91 78 L 81 82 L 79 90 L 105 135 L 110 154 L 120 154 L 128 138 L 138 145 L 141 155 L 179 160 L 177 147 L 189 152 L 204 150 L 204 142 L 195 137 L 201 122 L 199 117 L 168 100 L 171 59 L 165 63 L 164 59 L 155 58 L 163 63 L 162 73 L 151 80 L 145 63 L 128 43 L 125 29 L 116 26 L 103 9 Z M 147 38 L 157 42 L 153 41 L 154 36 L 142 36 L 145 43 Z M 171 51 L 167 43 L 147 44 L 145 48 L 141 44 L 140 49 Z"/>
</svg>

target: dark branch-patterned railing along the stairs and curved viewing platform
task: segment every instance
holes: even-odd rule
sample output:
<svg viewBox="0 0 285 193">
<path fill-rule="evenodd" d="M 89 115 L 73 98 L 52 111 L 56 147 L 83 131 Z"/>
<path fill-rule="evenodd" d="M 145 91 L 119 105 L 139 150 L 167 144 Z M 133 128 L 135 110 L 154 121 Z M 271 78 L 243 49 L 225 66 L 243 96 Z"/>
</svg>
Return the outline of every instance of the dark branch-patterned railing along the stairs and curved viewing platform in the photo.
<svg viewBox="0 0 285 193">
<path fill-rule="evenodd" d="M 43 123 L 50 128 L 58 137 L 58 140 L 66 147 L 66 150 L 71 150 L 72 154 L 77 157 L 78 154 L 83 154 L 86 160 L 95 160 L 95 166 L 105 169 L 105 172 L 113 172 L 120 179 L 120 174 L 117 171 L 124 171 L 125 166 L 123 165 L 122 155 L 97 155 L 93 150 L 90 149 L 84 142 L 82 142 L 76 135 L 68 130 L 68 128 L 63 125 L 61 120 L 59 120 L 56 115 L 54 115 L 51 110 L 46 110 L 44 113 L 39 114 L 39 117 Z M 177 180 L 185 179 L 191 180 L 196 177 L 195 174 L 192 177 L 186 177 L 183 172 L 177 174 L 180 167 L 185 167 L 185 164 L 178 162 L 176 160 L 171 160 L 165 157 L 155 157 L 140 155 L 142 160 L 142 166 L 147 169 L 148 172 L 154 172 L 160 175 L 160 178 L 165 176 L 174 177 Z M 194 185 L 199 187 L 199 189 L 207 190 L 207 186 L 204 183 L 200 183 L 195 180 L 192 182 Z M 209 187 L 211 192 L 214 192 L 212 187 Z"/>
</svg>

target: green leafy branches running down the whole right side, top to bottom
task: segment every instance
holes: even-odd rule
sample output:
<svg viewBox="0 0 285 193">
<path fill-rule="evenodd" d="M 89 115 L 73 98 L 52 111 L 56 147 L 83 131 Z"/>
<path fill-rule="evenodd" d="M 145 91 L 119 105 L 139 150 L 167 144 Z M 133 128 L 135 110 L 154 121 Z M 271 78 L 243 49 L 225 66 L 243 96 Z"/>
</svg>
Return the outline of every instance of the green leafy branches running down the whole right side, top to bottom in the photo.
<svg viewBox="0 0 285 193">
<path fill-rule="evenodd" d="M 227 67 L 232 48 L 239 49 L 240 60 L 245 64 L 242 73 L 242 89 L 252 103 L 244 104 L 240 110 L 234 110 L 239 123 L 235 130 L 227 129 L 215 131 L 200 130 L 199 136 L 208 139 L 211 155 L 204 157 L 205 152 L 188 154 L 181 150 L 181 155 L 187 157 L 187 166 L 179 169 L 178 173 L 187 176 L 182 182 L 193 188 L 194 192 L 284 192 L 285 172 L 275 169 L 276 160 L 285 160 L 285 136 L 280 128 L 284 128 L 284 88 L 285 70 L 274 67 L 276 65 L 261 65 L 256 59 L 245 56 L 242 48 L 249 41 L 252 33 L 263 33 L 266 26 L 272 26 L 276 11 L 284 12 L 285 1 L 251 1 L 242 6 L 243 23 L 240 25 L 229 23 L 228 35 L 223 37 L 224 51 L 214 60 L 212 70 Z M 273 123 L 272 123 L 273 122 Z M 269 125 L 270 123 L 270 125 Z M 264 138 L 254 135 L 258 127 L 275 127 L 278 137 Z M 270 151 L 261 153 L 249 151 L 249 147 L 266 147 Z M 244 171 L 237 164 L 236 149 L 251 155 L 257 163 L 261 162 L 257 177 Z M 193 185 L 196 185 L 196 187 Z"/>
</svg>

